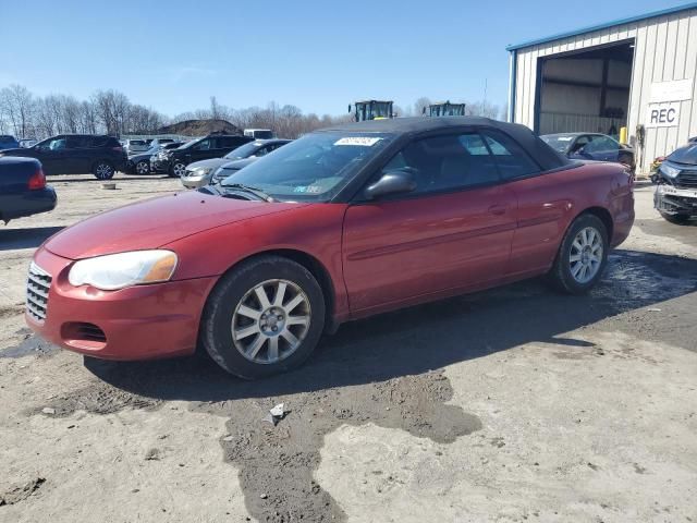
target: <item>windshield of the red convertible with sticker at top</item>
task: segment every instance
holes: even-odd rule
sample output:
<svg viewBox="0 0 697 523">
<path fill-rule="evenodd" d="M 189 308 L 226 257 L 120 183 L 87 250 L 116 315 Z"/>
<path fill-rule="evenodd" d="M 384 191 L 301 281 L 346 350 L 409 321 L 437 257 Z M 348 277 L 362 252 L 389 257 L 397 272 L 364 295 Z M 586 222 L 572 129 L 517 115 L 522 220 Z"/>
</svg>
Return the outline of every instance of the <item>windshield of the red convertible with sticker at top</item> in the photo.
<svg viewBox="0 0 697 523">
<path fill-rule="evenodd" d="M 311 133 L 231 174 L 221 185 L 253 186 L 280 200 L 328 202 L 393 139 L 383 133 Z"/>
</svg>

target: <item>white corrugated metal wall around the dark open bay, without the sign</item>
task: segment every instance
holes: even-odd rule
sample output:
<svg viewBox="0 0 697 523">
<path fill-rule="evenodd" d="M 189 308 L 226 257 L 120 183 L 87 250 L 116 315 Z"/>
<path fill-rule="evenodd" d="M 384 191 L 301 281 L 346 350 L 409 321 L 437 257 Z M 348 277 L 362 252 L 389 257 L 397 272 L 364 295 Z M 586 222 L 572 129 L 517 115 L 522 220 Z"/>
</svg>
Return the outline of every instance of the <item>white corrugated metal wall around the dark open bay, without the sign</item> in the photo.
<svg viewBox="0 0 697 523">
<path fill-rule="evenodd" d="M 680 102 L 678 126 L 646 127 L 644 158 L 637 170 L 647 171 L 656 156 L 665 155 L 697 135 L 697 9 L 518 49 L 514 121 L 534 127 L 539 58 L 629 38 L 635 39 L 627 125 L 631 138 L 637 124 L 647 123 L 652 83 L 693 80 L 692 99 Z"/>
</svg>

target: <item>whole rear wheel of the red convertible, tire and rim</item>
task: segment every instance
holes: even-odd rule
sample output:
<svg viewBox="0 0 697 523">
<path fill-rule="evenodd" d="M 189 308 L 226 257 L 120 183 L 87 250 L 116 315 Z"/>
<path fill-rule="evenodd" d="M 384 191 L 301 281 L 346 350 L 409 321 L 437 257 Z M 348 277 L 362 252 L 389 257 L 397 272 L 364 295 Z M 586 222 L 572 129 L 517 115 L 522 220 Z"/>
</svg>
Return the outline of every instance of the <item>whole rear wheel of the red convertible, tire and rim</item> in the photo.
<svg viewBox="0 0 697 523">
<path fill-rule="evenodd" d="M 600 218 L 580 215 L 566 231 L 549 277 L 559 290 L 584 294 L 602 277 L 608 264 L 608 230 Z"/>
</svg>

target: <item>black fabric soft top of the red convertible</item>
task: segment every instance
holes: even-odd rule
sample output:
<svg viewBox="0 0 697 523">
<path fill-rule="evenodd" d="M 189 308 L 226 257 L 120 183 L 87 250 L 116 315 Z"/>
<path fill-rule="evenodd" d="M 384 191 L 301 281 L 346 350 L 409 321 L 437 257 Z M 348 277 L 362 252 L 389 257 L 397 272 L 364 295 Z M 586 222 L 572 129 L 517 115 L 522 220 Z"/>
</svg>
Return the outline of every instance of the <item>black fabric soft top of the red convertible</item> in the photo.
<svg viewBox="0 0 697 523">
<path fill-rule="evenodd" d="M 480 117 L 414 117 L 345 123 L 322 131 L 420 134 L 449 127 L 492 127 L 515 139 L 542 168 L 548 171 L 571 161 L 542 142 L 533 131 L 519 123 L 506 123 Z"/>
</svg>

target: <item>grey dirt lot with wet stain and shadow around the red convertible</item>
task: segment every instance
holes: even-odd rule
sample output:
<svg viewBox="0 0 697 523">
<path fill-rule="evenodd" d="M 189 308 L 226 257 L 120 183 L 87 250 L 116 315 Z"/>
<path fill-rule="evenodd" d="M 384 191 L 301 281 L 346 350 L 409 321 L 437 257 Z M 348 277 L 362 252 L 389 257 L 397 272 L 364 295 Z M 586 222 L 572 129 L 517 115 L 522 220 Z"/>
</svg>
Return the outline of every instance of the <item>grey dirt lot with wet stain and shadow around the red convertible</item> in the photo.
<svg viewBox="0 0 697 523">
<path fill-rule="evenodd" d="M 0 521 L 697 521 L 697 227 L 650 187 L 589 296 L 534 280 L 383 315 L 244 382 L 84 365 L 24 327 L 36 246 L 179 188 L 118 182 L 54 179 L 53 212 L 0 226 Z"/>
</svg>

